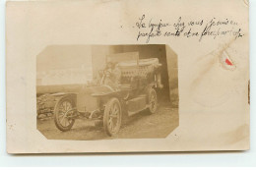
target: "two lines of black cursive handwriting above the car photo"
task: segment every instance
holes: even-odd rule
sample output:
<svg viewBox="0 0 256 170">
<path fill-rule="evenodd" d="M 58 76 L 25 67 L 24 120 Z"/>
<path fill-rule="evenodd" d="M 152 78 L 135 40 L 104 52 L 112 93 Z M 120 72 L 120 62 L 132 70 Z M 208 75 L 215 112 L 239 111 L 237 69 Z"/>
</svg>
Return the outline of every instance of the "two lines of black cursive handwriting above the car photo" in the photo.
<svg viewBox="0 0 256 170">
<path fill-rule="evenodd" d="M 210 21 L 200 19 L 185 22 L 182 17 L 179 17 L 176 21 L 170 22 L 142 15 L 135 26 L 138 29 L 137 41 L 144 39 L 146 43 L 155 37 L 196 37 L 198 41 L 202 41 L 206 37 L 216 39 L 227 35 L 235 38 L 243 36 L 239 24 L 229 19 L 213 18 Z"/>
</svg>

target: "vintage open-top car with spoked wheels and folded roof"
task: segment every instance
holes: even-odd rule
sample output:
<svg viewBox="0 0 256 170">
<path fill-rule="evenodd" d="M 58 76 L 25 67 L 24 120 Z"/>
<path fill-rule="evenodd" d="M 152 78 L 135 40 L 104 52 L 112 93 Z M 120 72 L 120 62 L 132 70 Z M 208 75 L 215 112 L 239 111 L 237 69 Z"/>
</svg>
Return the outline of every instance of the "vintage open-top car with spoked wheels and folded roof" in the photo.
<svg viewBox="0 0 256 170">
<path fill-rule="evenodd" d="M 69 131 L 76 119 L 86 118 L 96 120 L 108 136 L 114 136 L 122 117 L 146 109 L 151 114 L 157 111 L 156 89 L 162 87 L 158 58 L 120 61 L 116 67 L 121 71 L 119 85 L 105 85 L 102 76 L 99 84 L 57 94 L 61 96 L 54 107 L 54 122 L 60 131 Z"/>
</svg>

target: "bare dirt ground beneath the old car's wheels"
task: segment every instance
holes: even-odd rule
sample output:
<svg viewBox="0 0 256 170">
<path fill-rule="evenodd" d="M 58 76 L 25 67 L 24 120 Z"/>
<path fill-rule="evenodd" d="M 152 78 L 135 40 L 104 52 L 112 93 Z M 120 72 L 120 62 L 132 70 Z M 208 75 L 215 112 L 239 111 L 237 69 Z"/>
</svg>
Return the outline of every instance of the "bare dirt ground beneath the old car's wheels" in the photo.
<svg viewBox="0 0 256 170">
<path fill-rule="evenodd" d="M 103 127 L 87 119 L 76 120 L 68 132 L 59 131 L 53 118 L 37 120 L 37 130 L 49 140 L 106 140 L 106 139 L 152 139 L 165 138 L 179 125 L 178 108 L 161 103 L 158 112 L 149 115 L 142 111 L 128 117 L 118 135 L 108 137 Z"/>
</svg>

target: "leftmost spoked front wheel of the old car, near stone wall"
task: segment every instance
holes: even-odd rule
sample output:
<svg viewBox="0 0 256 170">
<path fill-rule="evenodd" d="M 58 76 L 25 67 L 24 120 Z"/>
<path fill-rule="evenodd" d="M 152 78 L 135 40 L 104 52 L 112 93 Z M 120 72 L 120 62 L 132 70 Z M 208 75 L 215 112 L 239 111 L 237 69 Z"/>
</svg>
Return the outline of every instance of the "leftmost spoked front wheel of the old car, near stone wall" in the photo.
<svg viewBox="0 0 256 170">
<path fill-rule="evenodd" d="M 68 118 L 70 114 L 73 114 L 75 103 L 71 97 L 65 96 L 58 100 L 54 107 L 54 123 L 56 127 L 63 132 L 69 131 L 74 123 L 75 119 Z"/>
</svg>

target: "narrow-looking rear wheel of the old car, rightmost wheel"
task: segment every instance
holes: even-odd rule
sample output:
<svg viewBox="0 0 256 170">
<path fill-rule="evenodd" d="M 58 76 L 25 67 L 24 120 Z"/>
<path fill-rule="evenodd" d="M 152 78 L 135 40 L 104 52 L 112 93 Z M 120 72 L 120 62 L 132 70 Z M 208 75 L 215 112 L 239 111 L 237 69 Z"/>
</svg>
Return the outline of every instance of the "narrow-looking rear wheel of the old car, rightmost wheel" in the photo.
<svg viewBox="0 0 256 170">
<path fill-rule="evenodd" d="M 149 107 L 148 110 L 150 114 L 154 114 L 158 110 L 158 95 L 157 91 L 154 88 L 149 88 L 148 90 L 148 101 L 149 101 Z"/>
</svg>

